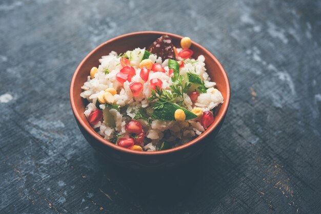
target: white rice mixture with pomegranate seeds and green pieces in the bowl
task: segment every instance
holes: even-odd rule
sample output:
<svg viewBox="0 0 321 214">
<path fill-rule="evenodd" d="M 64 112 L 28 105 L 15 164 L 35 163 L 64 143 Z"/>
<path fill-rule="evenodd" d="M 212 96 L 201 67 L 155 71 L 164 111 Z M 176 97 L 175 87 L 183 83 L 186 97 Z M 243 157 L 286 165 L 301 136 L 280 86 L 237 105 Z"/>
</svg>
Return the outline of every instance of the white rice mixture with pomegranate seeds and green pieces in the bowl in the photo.
<svg viewBox="0 0 321 214">
<path fill-rule="evenodd" d="M 85 115 L 108 141 L 135 151 L 161 151 L 191 141 L 214 121 L 223 103 L 205 68 L 192 58 L 191 40 L 176 48 L 168 35 L 147 49 L 136 48 L 99 59 L 81 96 Z"/>
</svg>

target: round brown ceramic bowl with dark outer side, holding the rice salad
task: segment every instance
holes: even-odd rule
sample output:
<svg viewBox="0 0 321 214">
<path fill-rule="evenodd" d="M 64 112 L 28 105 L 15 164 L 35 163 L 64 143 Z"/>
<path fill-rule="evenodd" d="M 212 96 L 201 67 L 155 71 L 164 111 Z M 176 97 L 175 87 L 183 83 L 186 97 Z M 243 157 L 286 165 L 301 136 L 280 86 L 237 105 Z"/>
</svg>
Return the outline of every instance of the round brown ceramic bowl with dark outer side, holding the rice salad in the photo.
<svg viewBox="0 0 321 214">
<path fill-rule="evenodd" d="M 104 42 L 91 51 L 77 67 L 70 85 L 70 102 L 73 114 L 79 129 L 87 141 L 97 151 L 104 153 L 115 164 L 129 167 L 132 169 L 160 169 L 180 165 L 199 155 L 208 143 L 213 143 L 223 124 L 225 115 L 230 102 L 230 83 L 226 72 L 219 61 L 207 51 L 204 47 L 192 42 L 191 49 L 197 58 L 198 55 L 205 56 L 206 68 L 212 81 L 216 82 L 216 88 L 222 93 L 224 103 L 220 104 L 214 111 L 214 122 L 209 128 L 194 140 L 165 151 L 157 152 L 138 152 L 127 148 L 117 146 L 103 137 L 99 136 L 88 123 L 84 110 L 87 100 L 81 98 L 82 85 L 87 81 L 89 71 L 93 66 L 98 67 L 98 59 L 111 51 L 124 53 L 127 50 L 133 50 L 137 47 L 148 47 L 156 38 L 168 34 L 173 39 L 174 46 L 180 47 L 182 36 L 157 31 L 135 32 L 121 35 Z"/>
</svg>

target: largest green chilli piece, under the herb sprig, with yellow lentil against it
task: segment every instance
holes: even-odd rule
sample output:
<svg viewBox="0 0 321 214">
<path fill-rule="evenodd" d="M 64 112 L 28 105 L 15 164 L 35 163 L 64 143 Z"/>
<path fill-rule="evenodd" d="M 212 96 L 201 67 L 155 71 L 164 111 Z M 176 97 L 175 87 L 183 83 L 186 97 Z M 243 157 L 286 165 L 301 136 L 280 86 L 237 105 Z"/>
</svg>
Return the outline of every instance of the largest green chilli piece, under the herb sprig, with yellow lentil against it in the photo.
<svg viewBox="0 0 321 214">
<path fill-rule="evenodd" d="M 197 117 L 197 115 L 195 115 L 191 111 L 188 111 L 187 109 L 182 108 L 175 103 L 166 102 L 164 103 L 164 106 L 162 109 L 154 109 L 152 119 L 175 121 L 174 114 L 177 109 L 181 109 L 184 111 L 186 115 L 186 120 L 191 120 Z"/>
</svg>

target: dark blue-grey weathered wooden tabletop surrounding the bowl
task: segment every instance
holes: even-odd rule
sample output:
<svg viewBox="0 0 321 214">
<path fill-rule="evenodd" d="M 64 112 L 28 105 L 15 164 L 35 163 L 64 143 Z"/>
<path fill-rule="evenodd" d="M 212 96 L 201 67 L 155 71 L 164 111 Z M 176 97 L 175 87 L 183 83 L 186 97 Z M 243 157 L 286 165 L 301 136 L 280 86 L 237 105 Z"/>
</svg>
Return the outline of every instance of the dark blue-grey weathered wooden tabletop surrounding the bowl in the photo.
<svg viewBox="0 0 321 214">
<path fill-rule="evenodd" d="M 114 168 L 76 126 L 69 84 L 124 33 L 191 37 L 222 62 L 215 141 L 171 172 Z M 321 1 L 1 1 L 0 213 L 320 213 Z"/>
</svg>

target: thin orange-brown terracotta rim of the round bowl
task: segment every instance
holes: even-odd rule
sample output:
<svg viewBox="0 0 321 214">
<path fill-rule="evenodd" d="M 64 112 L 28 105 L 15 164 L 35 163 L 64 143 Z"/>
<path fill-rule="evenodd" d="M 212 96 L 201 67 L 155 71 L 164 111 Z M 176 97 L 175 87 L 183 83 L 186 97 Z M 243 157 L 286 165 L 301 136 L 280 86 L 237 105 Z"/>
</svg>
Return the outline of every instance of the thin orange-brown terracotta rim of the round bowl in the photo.
<svg viewBox="0 0 321 214">
<path fill-rule="evenodd" d="M 223 66 L 220 64 L 220 62 L 216 59 L 216 57 L 211 53 L 209 52 L 207 49 L 205 49 L 203 46 L 197 44 L 196 42 L 192 41 L 192 46 L 194 47 L 197 47 L 199 49 L 202 50 L 203 53 L 206 53 L 208 54 L 212 60 L 218 65 L 219 69 L 221 71 L 223 71 L 223 77 L 224 77 L 224 80 L 225 80 L 225 84 L 226 84 L 226 87 L 227 87 L 227 95 L 224 99 L 224 106 L 222 106 L 224 109 L 223 109 L 223 112 L 219 115 L 216 115 L 215 117 L 217 117 L 216 121 L 214 123 L 212 123 L 208 129 L 202 133 L 201 135 L 199 135 L 197 138 L 191 140 L 190 142 L 188 143 L 185 143 L 183 145 L 180 145 L 180 146 L 177 146 L 177 147 L 174 147 L 174 148 L 171 148 L 171 149 L 167 149 L 167 150 L 164 150 L 164 151 L 155 151 L 155 152 L 139 152 L 139 151 L 133 151 L 133 150 L 130 150 L 128 148 L 123 148 L 121 146 L 117 146 L 111 142 L 109 142 L 108 140 L 104 139 L 102 136 L 100 136 L 98 133 L 96 133 L 92 127 L 88 124 L 85 123 L 85 121 L 82 120 L 81 116 L 78 114 L 78 112 L 76 111 L 76 105 L 75 105 L 75 102 L 74 102 L 74 98 L 73 98 L 73 89 L 74 89 L 74 85 L 75 85 L 75 82 L 76 82 L 76 76 L 78 74 L 78 72 L 80 71 L 81 67 L 83 66 L 83 64 L 87 61 L 87 59 L 94 53 L 96 52 L 99 48 L 105 46 L 106 44 L 114 41 L 114 40 L 117 40 L 117 39 L 121 39 L 121 38 L 124 38 L 124 37 L 130 37 L 130 36 L 133 36 L 133 35 L 139 35 L 139 34 L 156 34 L 156 35 L 159 35 L 159 34 L 167 34 L 171 37 L 176 37 L 176 38 L 183 38 L 183 36 L 180 36 L 180 35 L 177 35 L 177 34 L 172 34 L 172 33 L 167 33 L 167 32 L 161 32 L 161 31 L 138 31 L 138 32 L 133 32 L 133 33 L 127 33 L 127 34 L 123 34 L 123 35 L 120 35 L 120 36 L 117 36 L 117 37 L 114 37 L 112 39 L 109 39 L 108 41 L 104 42 L 103 44 L 97 46 L 96 48 L 94 48 L 82 61 L 81 63 L 79 63 L 78 67 L 76 68 L 73 76 L 72 76 L 72 79 L 71 79 L 71 84 L 70 84 L 70 103 L 71 103 L 71 108 L 72 108 L 72 111 L 73 111 L 73 114 L 76 118 L 76 120 L 79 122 L 79 124 L 82 125 L 82 127 L 92 136 L 94 137 L 96 140 L 98 140 L 99 142 L 113 148 L 113 149 L 116 149 L 118 151 L 121 151 L 121 152 L 124 152 L 124 153 L 129 153 L 129 154 L 132 154 L 132 155 L 165 155 L 165 154 L 169 154 L 169 153 L 174 153 L 174 152 L 177 152 L 177 151 L 180 151 L 180 150 L 183 150 L 184 148 L 187 148 L 193 144 L 196 144 L 200 141 L 202 141 L 207 135 L 209 135 L 211 132 L 213 132 L 215 130 L 215 128 L 218 126 L 218 124 L 220 122 L 222 122 L 222 120 L 224 119 L 226 113 L 227 113 L 227 110 L 228 110 L 228 107 L 229 107 L 229 103 L 230 103 L 230 82 L 229 82 L 229 79 L 228 79 L 228 76 L 223 68 Z"/>
</svg>

